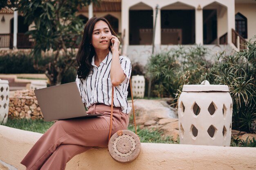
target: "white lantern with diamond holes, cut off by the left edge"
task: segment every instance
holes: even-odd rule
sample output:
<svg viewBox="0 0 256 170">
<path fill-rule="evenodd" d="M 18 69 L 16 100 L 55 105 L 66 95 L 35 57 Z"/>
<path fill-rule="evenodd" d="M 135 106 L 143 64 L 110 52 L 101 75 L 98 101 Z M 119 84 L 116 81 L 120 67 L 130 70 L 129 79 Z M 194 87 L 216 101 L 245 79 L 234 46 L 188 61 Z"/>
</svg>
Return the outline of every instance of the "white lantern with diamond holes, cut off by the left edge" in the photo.
<svg viewBox="0 0 256 170">
<path fill-rule="evenodd" d="M 5 124 L 9 112 L 9 82 L 0 79 L 0 125 Z"/>
</svg>

